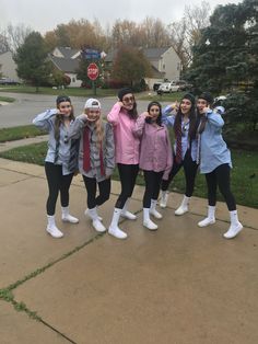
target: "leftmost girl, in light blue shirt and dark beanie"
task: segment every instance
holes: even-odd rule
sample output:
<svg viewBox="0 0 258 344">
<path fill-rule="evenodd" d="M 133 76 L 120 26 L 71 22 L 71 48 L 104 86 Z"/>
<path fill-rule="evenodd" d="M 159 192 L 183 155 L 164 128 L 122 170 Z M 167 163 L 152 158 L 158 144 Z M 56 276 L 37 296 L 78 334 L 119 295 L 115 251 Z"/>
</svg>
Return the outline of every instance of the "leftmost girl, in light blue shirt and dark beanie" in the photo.
<svg viewBox="0 0 258 344">
<path fill-rule="evenodd" d="M 71 159 L 77 158 L 77 141 L 68 139 L 68 130 L 74 119 L 71 100 L 67 95 L 59 95 L 56 100 L 56 108 L 38 114 L 33 119 L 33 124 L 49 133 L 48 151 L 45 159 L 45 172 L 49 192 L 46 204 L 48 221 L 46 231 L 52 238 L 61 238 L 63 233 L 57 228 L 55 221 L 59 192 L 62 221 L 79 222 L 78 218 L 69 214 L 69 188 L 78 163 L 77 159 Z M 74 152 L 71 154 L 73 150 Z"/>
</svg>

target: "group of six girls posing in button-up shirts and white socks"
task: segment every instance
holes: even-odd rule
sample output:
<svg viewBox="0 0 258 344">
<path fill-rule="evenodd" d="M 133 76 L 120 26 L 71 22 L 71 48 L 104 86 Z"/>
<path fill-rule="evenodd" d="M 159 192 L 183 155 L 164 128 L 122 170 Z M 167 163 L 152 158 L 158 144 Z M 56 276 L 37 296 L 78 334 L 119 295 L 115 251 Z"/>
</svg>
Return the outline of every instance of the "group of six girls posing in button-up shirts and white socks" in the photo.
<svg viewBox="0 0 258 344">
<path fill-rule="evenodd" d="M 231 226 L 224 238 L 231 239 L 243 229 L 238 221 L 236 204 L 230 188 L 231 153 L 224 142 L 221 128 L 224 124 L 221 114 L 224 108 L 212 110 L 213 98 L 206 92 L 198 96 L 187 93 L 179 103 L 162 111 L 159 102 L 151 102 L 146 112 L 138 115 L 137 103 L 130 88 L 118 92 L 107 122 L 102 121 L 101 103 L 89 99 L 84 113 L 73 115 L 71 100 L 59 95 L 56 108 L 37 115 L 33 123 L 49 131 L 45 171 L 48 182 L 47 232 L 54 238 L 63 233 L 55 222 L 55 210 L 60 192 L 62 220 L 78 223 L 79 219 L 69 213 L 69 187 L 72 177 L 80 172 L 87 191 L 85 215 L 94 229 L 106 231 L 98 215 L 98 207 L 110 195 L 110 176 L 118 168 L 121 191 L 116 200 L 108 233 L 126 239 L 127 233 L 119 228 L 120 217 L 134 220 L 137 216 L 128 210 L 139 169 L 143 171 L 145 190 L 143 195 L 143 226 L 156 230 L 152 220 L 161 219 L 156 209 L 165 208 L 168 186 L 180 168 L 184 168 L 186 192 L 175 215 L 188 211 L 195 188 L 198 167 L 206 175 L 208 186 L 208 216 L 198 222 L 204 227 L 215 222 L 216 187 L 225 198 Z M 173 127 L 175 144 L 172 149 L 167 127 Z M 97 192 L 98 190 L 98 192 Z"/>
</svg>

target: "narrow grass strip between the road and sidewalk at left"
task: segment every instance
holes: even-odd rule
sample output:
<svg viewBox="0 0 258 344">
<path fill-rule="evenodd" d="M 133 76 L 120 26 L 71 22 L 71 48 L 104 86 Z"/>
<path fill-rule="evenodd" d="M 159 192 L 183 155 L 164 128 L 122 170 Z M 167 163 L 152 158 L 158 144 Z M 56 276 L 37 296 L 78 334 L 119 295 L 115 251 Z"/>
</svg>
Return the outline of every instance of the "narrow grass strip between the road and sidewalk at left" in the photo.
<svg viewBox="0 0 258 344">
<path fill-rule="evenodd" d="M 24 125 L 12 128 L 0 128 L 0 142 L 14 141 L 23 138 L 35 137 L 38 135 L 47 134 L 39 130 L 35 125 Z"/>
</svg>

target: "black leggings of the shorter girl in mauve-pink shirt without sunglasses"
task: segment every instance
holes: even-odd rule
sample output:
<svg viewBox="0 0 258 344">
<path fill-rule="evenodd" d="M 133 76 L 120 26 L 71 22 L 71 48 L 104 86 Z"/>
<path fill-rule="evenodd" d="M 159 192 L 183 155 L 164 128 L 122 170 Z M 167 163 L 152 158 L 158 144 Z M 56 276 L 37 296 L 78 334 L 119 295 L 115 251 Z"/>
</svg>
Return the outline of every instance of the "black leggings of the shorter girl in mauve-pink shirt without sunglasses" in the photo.
<svg viewBox="0 0 258 344">
<path fill-rule="evenodd" d="M 151 199 L 157 199 L 164 171 L 143 171 L 145 180 L 145 192 L 143 196 L 143 208 L 151 207 Z"/>
</svg>

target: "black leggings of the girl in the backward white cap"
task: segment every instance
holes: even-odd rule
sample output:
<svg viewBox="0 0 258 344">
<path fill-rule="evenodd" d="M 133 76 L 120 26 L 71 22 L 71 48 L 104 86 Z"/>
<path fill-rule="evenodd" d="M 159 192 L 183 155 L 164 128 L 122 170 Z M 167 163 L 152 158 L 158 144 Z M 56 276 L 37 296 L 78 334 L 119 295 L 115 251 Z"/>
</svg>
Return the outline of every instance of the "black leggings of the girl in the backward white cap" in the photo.
<svg viewBox="0 0 258 344">
<path fill-rule="evenodd" d="M 87 192 L 87 208 L 93 209 L 96 206 L 101 206 L 110 196 L 112 180 L 110 177 L 96 182 L 95 177 L 89 177 L 83 175 L 83 181 Z M 96 197 L 96 185 L 98 186 L 98 196 Z"/>
</svg>

